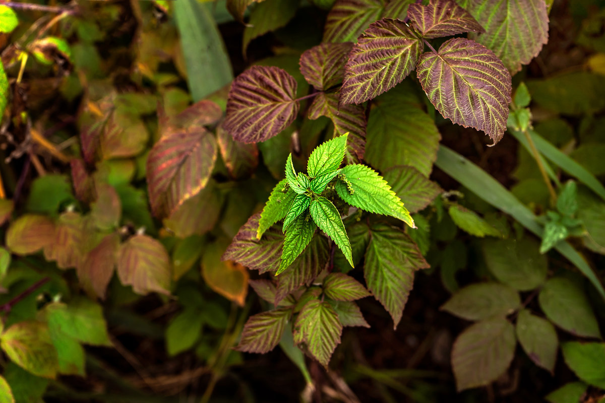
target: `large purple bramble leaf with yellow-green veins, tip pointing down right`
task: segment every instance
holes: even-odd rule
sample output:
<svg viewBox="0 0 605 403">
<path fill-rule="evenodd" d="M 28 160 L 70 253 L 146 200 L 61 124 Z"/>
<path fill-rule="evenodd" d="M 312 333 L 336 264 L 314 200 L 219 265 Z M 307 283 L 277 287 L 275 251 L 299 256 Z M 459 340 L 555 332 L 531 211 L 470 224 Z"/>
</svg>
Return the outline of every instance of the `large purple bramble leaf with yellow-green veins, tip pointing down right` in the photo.
<svg viewBox="0 0 605 403">
<path fill-rule="evenodd" d="M 438 53 L 420 56 L 422 89 L 445 118 L 500 141 L 511 102 L 511 75 L 495 54 L 473 40 L 446 40 Z"/>
</svg>

